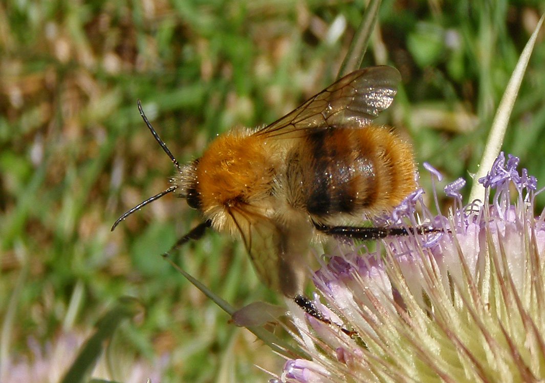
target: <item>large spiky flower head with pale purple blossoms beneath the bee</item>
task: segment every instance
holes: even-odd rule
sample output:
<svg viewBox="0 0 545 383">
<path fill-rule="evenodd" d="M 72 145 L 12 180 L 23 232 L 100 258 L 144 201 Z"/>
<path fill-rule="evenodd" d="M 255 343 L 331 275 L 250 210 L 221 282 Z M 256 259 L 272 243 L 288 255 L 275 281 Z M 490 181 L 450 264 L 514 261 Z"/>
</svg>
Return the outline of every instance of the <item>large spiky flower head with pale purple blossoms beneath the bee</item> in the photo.
<svg viewBox="0 0 545 383">
<path fill-rule="evenodd" d="M 458 179 L 445 187 L 447 216 L 433 217 L 420 191 L 392 216 L 416 226 L 419 203 L 443 232 L 331 256 L 314 303 L 338 327 L 292 307 L 311 360 L 288 360 L 271 382 L 545 379 L 545 212 L 534 216 L 537 181 L 518 163 L 501 153 L 479 179 L 486 202 L 463 206 Z"/>
</svg>

